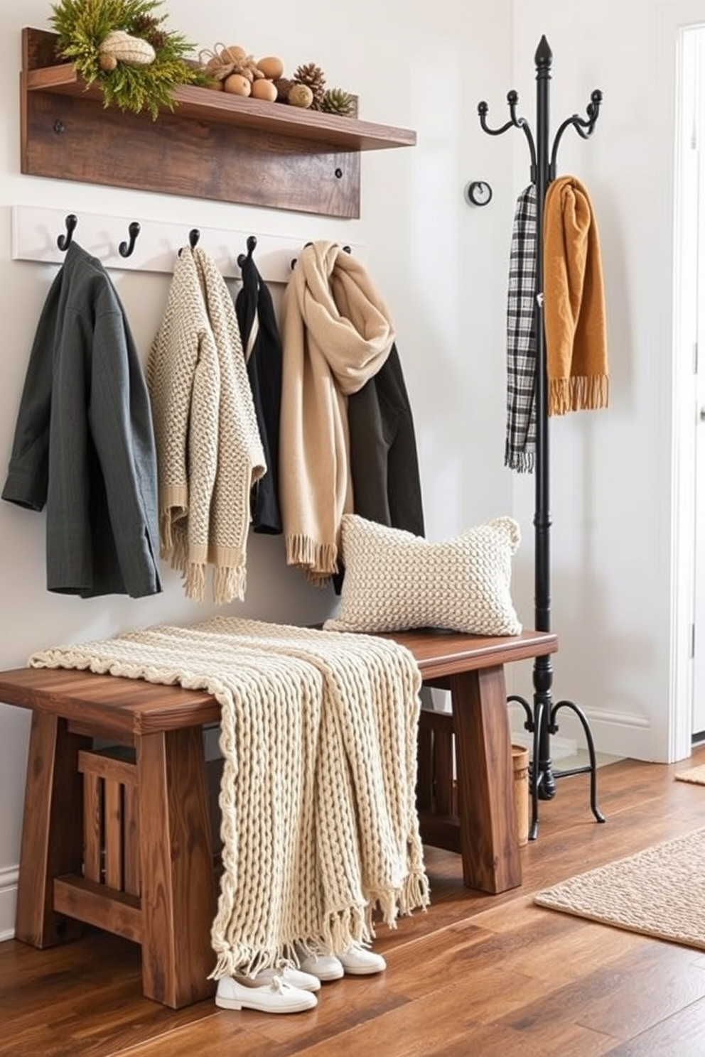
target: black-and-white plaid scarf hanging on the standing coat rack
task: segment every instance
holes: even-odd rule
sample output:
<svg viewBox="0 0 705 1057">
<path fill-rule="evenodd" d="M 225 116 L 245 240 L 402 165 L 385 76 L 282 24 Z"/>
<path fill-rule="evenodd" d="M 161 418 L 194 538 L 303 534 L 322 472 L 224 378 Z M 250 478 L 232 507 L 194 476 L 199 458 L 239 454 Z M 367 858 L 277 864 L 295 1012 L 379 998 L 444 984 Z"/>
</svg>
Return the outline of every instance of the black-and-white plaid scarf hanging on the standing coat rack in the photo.
<svg viewBox="0 0 705 1057">
<path fill-rule="evenodd" d="M 504 465 L 534 469 L 536 449 L 536 187 L 517 200 L 506 303 L 506 442 Z"/>
</svg>

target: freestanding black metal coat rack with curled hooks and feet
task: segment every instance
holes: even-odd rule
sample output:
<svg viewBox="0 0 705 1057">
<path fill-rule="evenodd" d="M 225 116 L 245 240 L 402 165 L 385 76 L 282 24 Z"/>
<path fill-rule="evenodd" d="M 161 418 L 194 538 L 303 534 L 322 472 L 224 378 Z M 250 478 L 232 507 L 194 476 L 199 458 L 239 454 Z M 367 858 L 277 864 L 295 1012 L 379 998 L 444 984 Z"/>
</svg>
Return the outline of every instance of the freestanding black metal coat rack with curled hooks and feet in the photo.
<svg viewBox="0 0 705 1057">
<path fill-rule="evenodd" d="M 558 128 L 551 144 L 550 140 L 550 107 L 549 87 L 551 81 L 551 64 L 553 54 L 545 37 L 541 37 L 536 50 L 536 140 L 523 117 L 517 117 L 519 96 L 512 91 L 506 100 L 509 107 L 509 120 L 501 128 L 487 127 L 488 107 L 480 103 L 478 113 L 480 124 L 489 135 L 501 135 L 507 129 L 521 129 L 528 143 L 531 154 L 531 179 L 536 185 L 536 455 L 535 485 L 536 504 L 534 515 L 535 532 L 535 627 L 537 631 L 551 631 L 551 569 L 550 569 L 550 533 L 551 511 L 549 504 L 549 415 L 548 415 L 548 383 L 545 357 L 545 332 L 543 326 L 543 205 L 549 184 L 556 177 L 556 156 L 558 146 L 565 129 L 571 126 L 579 136 L 588 140 L 595 128 L 602 93 L 595 90 L 587 107 L 587 117 L 573 114 Z M 524 727 L 534 736 L 533 759 L 530 765 L 530 781 L 532 793 L 532 820 L 530 839 L 535 840 L 538 834 L 538 801 L 550 800 L 556 794 L 555 781 L 570 775 L 590 774 L 590 806 L 598 822 L 605 821 L 605 816 L 597 808 L 597 779 L 595 746 L 588 719 L 573 701 L 552 703 L 553 666 L 551 655 L 537 657 L 534 664 L 534 699 L 533 707 L 528 701 L 518 694 L 512 694 L 508 702 L 520 704 L 526 715 Z M 579 719 L 588 744 L 590 763 L 586 766 L 564 771 L 554 771 L 551 760 L 551 735 L 558 730 L 556 718 L 561 708 L 569 708 Z"/>
</svg>

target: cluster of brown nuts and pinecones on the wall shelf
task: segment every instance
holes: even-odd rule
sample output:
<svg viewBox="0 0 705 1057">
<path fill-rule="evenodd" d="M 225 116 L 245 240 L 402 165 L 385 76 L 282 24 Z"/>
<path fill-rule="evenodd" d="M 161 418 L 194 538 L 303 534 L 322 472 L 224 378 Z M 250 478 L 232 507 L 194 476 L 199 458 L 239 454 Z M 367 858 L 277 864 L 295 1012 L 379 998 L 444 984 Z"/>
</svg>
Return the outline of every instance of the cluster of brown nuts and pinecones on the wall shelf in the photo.
<svg viewBox="0 0 705 1057">
<path fill-rule="evenodd" d="M 329 114 L 356 110 L 354 95 L 341 88 L 326 88 L 326 75 L 315 62 L 299 66 L 292 77 L 284 77 L 284 63 L 276 55 L 256 59 L 239 44 L 216 44 L 211 52 L 201 52 L 200 60 L 208 87 L 219 91 Z"/>
</svg>

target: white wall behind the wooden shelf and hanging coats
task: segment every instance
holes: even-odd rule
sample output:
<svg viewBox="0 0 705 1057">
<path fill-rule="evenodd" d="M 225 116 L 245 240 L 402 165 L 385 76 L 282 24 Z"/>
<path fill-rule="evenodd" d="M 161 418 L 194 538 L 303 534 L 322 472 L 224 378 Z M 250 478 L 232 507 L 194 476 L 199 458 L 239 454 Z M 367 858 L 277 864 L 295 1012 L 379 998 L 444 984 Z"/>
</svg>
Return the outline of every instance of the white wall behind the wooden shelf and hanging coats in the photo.
<svg viewBox="0 0 705 1057">
<path fill-rule="evenodd" d="M 6 466 L 27 356 L 39 311 L 56 273 L 11 259 L 11 206 L 136 216 L 253 234 L 335 238 L 367 245 L 371 277 L 394 316 L 414 410 L 427 531 L 452 535 L 507 513 L 512 480 L 502 468 L 503 304 L 514 194 L 509 137 L 489 143 L 477 120 L 480 98 L 504 97 L 512 80 L 512 5 L 475 0 L 358 0 L 302 6 L 271 0 L 238 10 L 218 0 L 169 0 L 168 26 L 199 48 L 242 43 L 278 53 L 287 71 L 316 61 L 330 85 L 359 95 L 360 116 L 418 131 L 415 148 L 363 157 L 361 219 L 330 221 L 279 210 L 219 205 L 159 194 L 78 186 L 19 172 L 20 31 L 50 29 L 45 0 L 0 6 L 0 467 Z M 119 144 L 115 145 L 119 149 Z M 204 156 L 203 164 L 208 164 Z M 463 188 L 487 180 L 494 203 L 465 204 Z M 57 231 L 57 235 L 59 233 Z M 79 234 L 76 234 L 79 241 Z M 237 255 L 244 246 L 233 246 Z M 167 276 L 112 273 L 146 355 L 159 324 Z M 4 468 L 0 475 L 4 479 Z M 530 524 L 530 522 L 527 523 Z M 142 600 L 72 599 L 44 589 L 43 515 L 0 503 L 0 667 L 23 665 L 52 644 L 105 637 L 157 620 L 186 623 L 210 609 L 187 602 L 179 578 Z M 283 567 L 281 541 L 251 537 L 242 615 L 305 623 L 334 599 Z M 524 619 L 531 623 L 531 611 Z M 12 930 L 29 713 L 0 705 L 0 937 Z"/>
</svg>

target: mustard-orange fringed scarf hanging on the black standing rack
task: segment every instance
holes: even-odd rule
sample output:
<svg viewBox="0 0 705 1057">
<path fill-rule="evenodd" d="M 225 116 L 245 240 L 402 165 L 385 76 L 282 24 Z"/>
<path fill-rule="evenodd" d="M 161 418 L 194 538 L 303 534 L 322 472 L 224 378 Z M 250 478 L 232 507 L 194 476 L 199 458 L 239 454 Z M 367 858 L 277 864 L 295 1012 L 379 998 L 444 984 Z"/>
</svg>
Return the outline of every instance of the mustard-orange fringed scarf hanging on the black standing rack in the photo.
<svg viewBox="0 0 705 1057">
<path fill-rule="evenodd" d="M 582 184 L 560 177 L 543 211 L 549 414 L 607 407 L 605 293 L 597 225 Z"/>
</svg>

